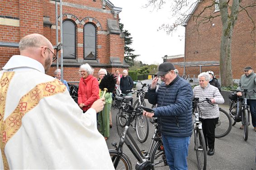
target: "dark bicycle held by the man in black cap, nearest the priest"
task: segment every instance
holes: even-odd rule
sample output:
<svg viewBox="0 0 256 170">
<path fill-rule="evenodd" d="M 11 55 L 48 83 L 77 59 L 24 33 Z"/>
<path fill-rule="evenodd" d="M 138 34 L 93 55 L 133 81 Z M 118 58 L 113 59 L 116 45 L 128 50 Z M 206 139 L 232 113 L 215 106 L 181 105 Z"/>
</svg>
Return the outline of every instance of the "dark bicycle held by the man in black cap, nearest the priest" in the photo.
<svg viewBox="0 0 256 170">
<path fill-rule="evenodd" d="M 112 146 L 115 147 L 115 149 L 109 150 L 114 168 L 116 170 L 132 170 L 132 163 L 129 157 L 123 153 L 123 144 L 125 143 L 138 161 L 135 166 L 136 170 L 169 170 L 157 124 L 154 124 L 156 129 L 152 136 L 148 152 L 139 149 L 131 133 L 128 131 L 130 124 L 137 115 L 142 115 L 143 110 L 146 110 L 147 112 L 153 112 L 153 110 L 143 106 L 138 106 L 136 109 L 133 109 L 133 106 L 128 103 L 125 103 L 125 108 L 125 111 L 128 114 L 128 119 L 120 137 L 119 145 L 117 146 L 117 143 L 113 142 Z"/>
</svg>

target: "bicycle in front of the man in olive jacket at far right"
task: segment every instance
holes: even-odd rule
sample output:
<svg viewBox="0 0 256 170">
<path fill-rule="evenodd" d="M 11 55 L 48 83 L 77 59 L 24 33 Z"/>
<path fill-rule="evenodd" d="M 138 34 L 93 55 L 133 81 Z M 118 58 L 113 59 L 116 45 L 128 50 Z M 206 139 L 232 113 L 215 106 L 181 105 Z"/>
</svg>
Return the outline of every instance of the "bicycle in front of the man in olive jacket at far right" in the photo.
<svg viewBox="0 0 256 170">
<path fill-rule="evenodd" d="M 247 105 L 247 93 L 256 93 L 256 91 L 248 91 L 247 89 L 244 89 L 243 91 L 236 90 L 235 92 L 242 92 L 244 97 L 242 98 L 237 96 L 236 93 L 229 96 L 229 99 L 231 99 L 229 102 L 229 115 L 232 117 L 232 119 L 234 119 L 232 126 L 234 126 L 237 122 L 242 121 L 244 129 L 244 140 L 247 141 L 248 126 L 250 125 L 250 106 Z"/>
</svg>

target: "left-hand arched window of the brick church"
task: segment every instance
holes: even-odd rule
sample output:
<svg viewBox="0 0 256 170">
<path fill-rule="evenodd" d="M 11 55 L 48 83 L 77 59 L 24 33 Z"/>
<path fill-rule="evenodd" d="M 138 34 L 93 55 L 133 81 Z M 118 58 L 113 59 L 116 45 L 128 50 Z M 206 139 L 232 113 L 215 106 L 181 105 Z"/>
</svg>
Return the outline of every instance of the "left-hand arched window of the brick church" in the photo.
<svg viewBox="0 0 256 170">
<path fill-rule="evenodd" d="M 63 58 L 76 59 L 76 25 L 66 20 L 62 25 L 63 29 Z"/>
</svg>

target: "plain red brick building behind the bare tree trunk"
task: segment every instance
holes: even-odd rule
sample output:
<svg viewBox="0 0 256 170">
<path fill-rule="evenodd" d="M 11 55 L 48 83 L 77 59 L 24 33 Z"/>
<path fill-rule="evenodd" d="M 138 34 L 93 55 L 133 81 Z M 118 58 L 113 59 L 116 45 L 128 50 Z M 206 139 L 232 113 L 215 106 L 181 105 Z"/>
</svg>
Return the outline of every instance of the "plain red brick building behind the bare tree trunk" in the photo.
<svg viewBox="0 0 256 170">
<path fill-rule="evenodd" d="M 232 0 L 229 4 L 232 3 Z M 202 0 L 193 10 L 193 14 L 199 14 L 204 7 L 212 4 L 212 0 Z M 256 0 L 242 0 L 242 6 L 250 4 L 256 4 Z M 241 8 L 240 8 L 241 9 Z M 247 12 L 250 17 L 256 22 L 256 6 L 247 8 Z M 206 9 L 204 16 L 216 16 L 220 12 L 215 10 L 215 6 Z M 188 18 L 185 26 L 185 56 L 183 62 L 194 62 L 198 66 L 185 67 L 185 74 L 198 75 L 201 71 L 212 70 L 216 75 L 219 73 L 220 57 L 220 41 L 222 34 L 222 22 L 220 16 L 213 19 L 212 22 L 201 24 L 198 28 L 198 32 L 194 30 L 195 19 L 193 17 Z M 233 79 L 240 79 L 243 74 L 242 69 L 245 66 L 250 65 L 256 71 L 256 32 L 253 30 L 253 23 L 247 16 L 246 11 L 242 11 L 238 14 L 237 23 L 233 29 L 232 36 L 232 77 Z M 177 59 L 171 59 L 171 62 Z M 180 60 L 180 59 L 179 59 Z M 214 62 L 213 62 L 214 61 Z M 193 64 L 188 64 L 193 65 Z M 204 66 L 215 65 L 215 66 Z M 182 71 L 184 67 L 178 67 L 179 71 Z"/>
</svg>

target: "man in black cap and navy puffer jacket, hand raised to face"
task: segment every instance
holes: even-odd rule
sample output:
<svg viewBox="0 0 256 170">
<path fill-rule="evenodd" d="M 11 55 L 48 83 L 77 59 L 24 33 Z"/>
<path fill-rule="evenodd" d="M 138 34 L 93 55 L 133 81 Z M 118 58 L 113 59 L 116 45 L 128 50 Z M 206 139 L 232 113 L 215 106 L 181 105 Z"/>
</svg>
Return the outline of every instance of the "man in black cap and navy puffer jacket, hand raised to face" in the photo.
<svg viewBox="0 0 256 170">
<path fill-rule="evenodd" d="M 175 74 L 172 63 L 159 65 L 157 75 L 163 83 L 156 91 L 157 76 L 148 89 L 148 101 L 157 104 L 154 113 L 144 111 L 146 117 L 157 117 L 165 148 L 167 163 L 171 170 L 187 170 L 187 156 L 192 134 L 191 85 Z"/>
</svg>

